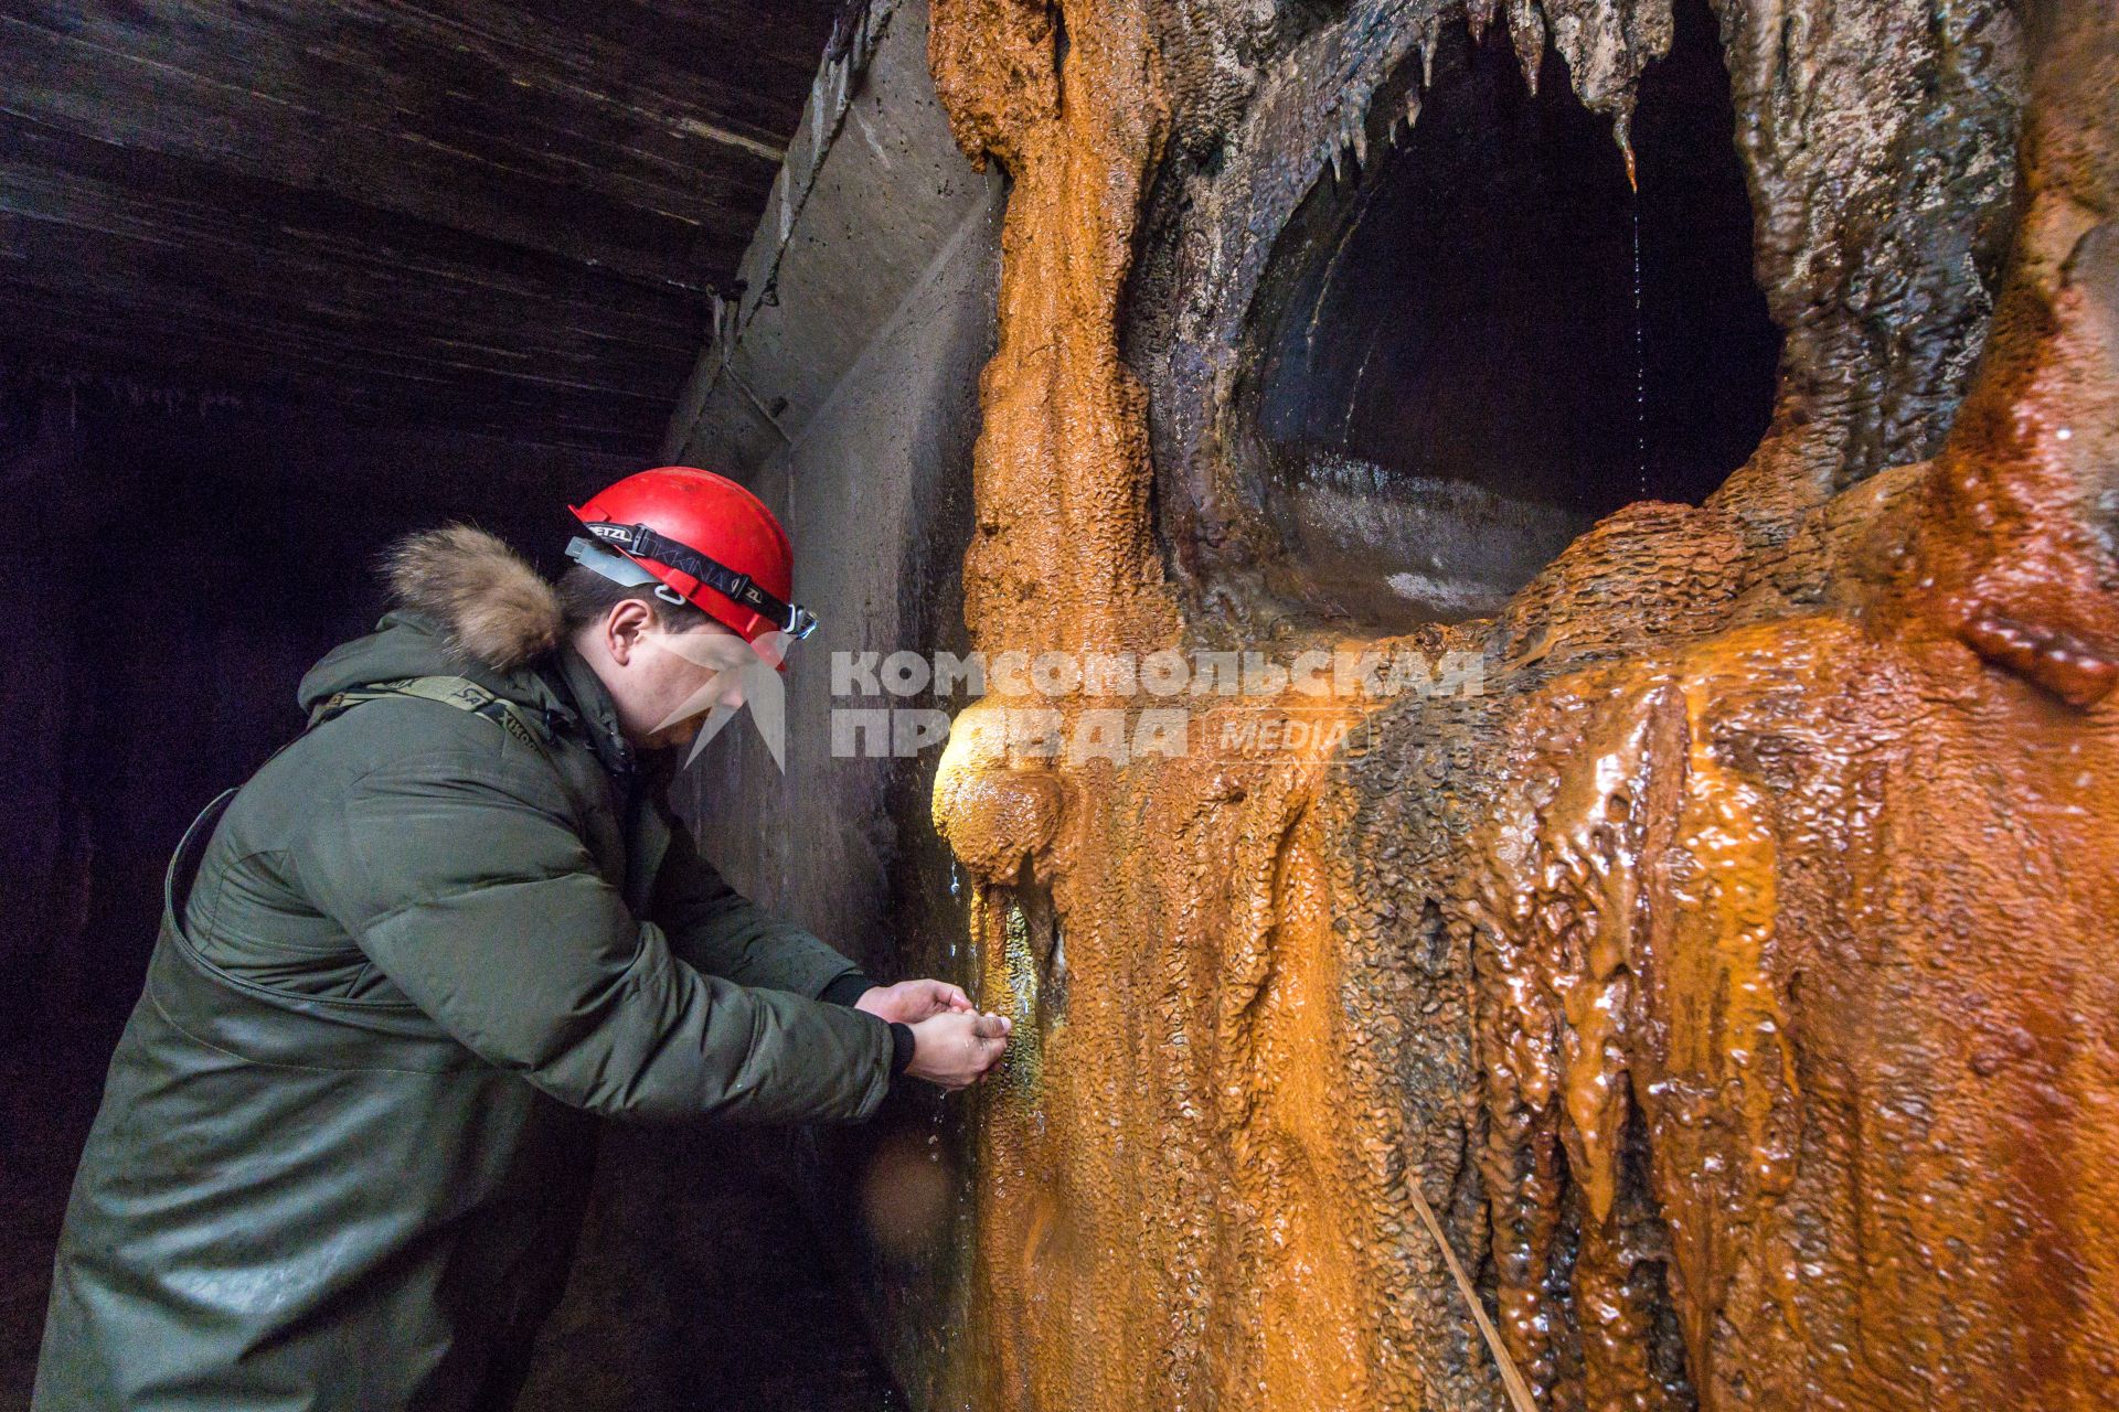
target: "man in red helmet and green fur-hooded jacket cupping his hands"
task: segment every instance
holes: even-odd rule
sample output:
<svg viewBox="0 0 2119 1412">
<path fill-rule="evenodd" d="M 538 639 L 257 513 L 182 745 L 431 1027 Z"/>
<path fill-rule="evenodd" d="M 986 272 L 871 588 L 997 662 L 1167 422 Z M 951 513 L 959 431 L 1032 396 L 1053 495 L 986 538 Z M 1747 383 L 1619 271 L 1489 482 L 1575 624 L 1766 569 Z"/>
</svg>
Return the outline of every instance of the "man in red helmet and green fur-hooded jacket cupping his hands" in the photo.
<svg viewBox="0 0 2119 1412">
<path fill-rule="evenodd" d="M 729 667 L 784 669 L 814 622 L 780 523 L 691 468 L 574 514 L 557 586 L 479 529 L 400 540 L 377 631 L 301 682 L 309 728 L 186 832 L 38 1412 L 506 1408 L 595 1116 L 860 1120 L 1000 1058 L 1002 1016 L 873 986 L 661 798 Z"/>
</svg>

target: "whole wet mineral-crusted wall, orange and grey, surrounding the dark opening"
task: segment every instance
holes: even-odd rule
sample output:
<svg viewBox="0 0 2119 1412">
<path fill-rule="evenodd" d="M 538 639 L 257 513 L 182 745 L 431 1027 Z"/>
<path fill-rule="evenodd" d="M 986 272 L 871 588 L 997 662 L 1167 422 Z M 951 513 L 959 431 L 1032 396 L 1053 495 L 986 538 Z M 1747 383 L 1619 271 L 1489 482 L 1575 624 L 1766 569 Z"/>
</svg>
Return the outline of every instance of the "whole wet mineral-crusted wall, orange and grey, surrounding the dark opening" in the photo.
<svg viewBox="0 0 2119 1412">
<path fill-rule="evenodd" d="M 1276 510 L 1259 301 L 1333 167 L 1439 116 L 1445 30 L 1547 91 L 1557 53 L 1632 140 L 1697 19 L 934 6 L 958 140 L 1015 182 L 973 644 L 1485 665 L 1335 701 L 1358 756 L 1068 764 L 960 718 L 934 817 L 981 1001 L 1034 1018 L 971 1120 L 973 1406 L 1504 1406 L 1420 1200 L 1541 1406 L 2104 1404 L 2108 6 L 1712 6 L 1782 347 L 1702 504 L 1460 622 L 1335 610 Z"/>
</svg>

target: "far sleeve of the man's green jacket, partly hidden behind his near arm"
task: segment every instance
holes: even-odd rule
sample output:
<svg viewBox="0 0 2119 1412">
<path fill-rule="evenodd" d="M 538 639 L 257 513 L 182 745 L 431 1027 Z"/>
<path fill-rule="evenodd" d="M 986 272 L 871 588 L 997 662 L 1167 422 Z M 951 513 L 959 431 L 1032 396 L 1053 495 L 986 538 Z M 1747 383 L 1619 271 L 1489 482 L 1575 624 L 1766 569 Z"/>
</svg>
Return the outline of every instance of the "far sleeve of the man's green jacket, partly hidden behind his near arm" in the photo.
<svg viewBox="0 0 2119 1412">
<path fill-rule="evenodd" d="M 657 811 L 670 828 L 670 851 L 655 874 L 648 915 L 670 934 L 676 955 L 746 986 L 860 999 L 867 978 L 854 961 L 729 887 L 699 855 L 684 821 L 659 802 Z"/>
</svg>

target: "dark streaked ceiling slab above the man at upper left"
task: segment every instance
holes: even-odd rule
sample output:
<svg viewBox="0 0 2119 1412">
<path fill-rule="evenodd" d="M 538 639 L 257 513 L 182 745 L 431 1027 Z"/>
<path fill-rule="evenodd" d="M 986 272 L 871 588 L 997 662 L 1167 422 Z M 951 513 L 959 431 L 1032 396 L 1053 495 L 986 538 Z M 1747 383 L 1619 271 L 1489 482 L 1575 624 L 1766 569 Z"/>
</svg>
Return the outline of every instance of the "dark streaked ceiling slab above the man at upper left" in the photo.
<svg viewBox="0 0 2119 1412">
<path fill-rule="evenodd" d="M 837 0 L 0 0 L 0 354 L 653 449 Z"/>
</svg>

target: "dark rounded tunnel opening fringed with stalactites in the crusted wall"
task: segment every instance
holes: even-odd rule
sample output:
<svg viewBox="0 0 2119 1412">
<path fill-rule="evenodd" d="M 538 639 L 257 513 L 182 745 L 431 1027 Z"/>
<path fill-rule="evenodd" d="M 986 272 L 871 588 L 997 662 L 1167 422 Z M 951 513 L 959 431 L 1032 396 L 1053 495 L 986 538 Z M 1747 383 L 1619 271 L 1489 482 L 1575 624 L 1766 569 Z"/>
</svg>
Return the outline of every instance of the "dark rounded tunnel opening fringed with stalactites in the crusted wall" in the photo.
<svg viewBox="0 0 2119 1412">
<path fill-rule="evenodd" d="M 1278 586 L 1369 627 L 1490 614 L 1604 514 L 1697 504 L 1765 434 L 1780 360 L 1704 0 L 1642 74 L 1638 193 L 1551 47 L 1532 93 L 1504 25 L 1456 25 L 1420 80 L 1384 85 L 1358 174 L 1326 167 L 1282 233 L 1235 400 Z"/>
</svg>

